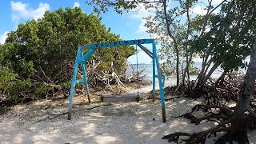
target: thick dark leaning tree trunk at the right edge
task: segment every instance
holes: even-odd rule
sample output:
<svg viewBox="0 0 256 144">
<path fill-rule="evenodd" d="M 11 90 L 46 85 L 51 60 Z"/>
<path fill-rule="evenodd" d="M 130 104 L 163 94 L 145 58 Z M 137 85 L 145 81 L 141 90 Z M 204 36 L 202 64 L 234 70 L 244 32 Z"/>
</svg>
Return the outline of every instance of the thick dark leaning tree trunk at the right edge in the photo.
<svg viewBox="0 0 256 144">
<path fill-rule="evenodd" d="M 249 143 L 248 137 L 246 134 L 246 130 L 249 127 L 249 115 L 246 115 L 245 112 L 249 112 L 251 116 L 256 118 L 256 113 L 250 107 L 250 97 L 254 90 L 256 79 L 256 42 L 254 42 L 253 50 L 250 54 L 250 63 L 248 66 L 248 70 L 244 77 L 244 81 L 242 82 L 242 88 L 240 90 L 239 99 L 237 102 L 237 106 L 230 118 L 230 123 L 232 129 L 230 129 L 230 133 L 227 133 L 222 136 L 222 139 L 225 137 L 233 141 L 233 139 L 237 138 L 238 143 L 247 144 Z M 253 120 L 254 121 L 254 120 Z"/>
</svg>

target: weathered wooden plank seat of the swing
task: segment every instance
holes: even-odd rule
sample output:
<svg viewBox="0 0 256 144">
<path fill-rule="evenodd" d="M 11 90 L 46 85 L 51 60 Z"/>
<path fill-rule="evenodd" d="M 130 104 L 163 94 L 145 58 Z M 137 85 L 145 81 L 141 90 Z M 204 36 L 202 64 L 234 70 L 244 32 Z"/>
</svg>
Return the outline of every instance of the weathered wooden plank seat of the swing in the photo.
<svg viewBox="0 0 256 144">
<path fill-rule="evenodd" d="M 138 95 L 134 94 L 103 94 L 102 102 L 138 102 Z"/>
</svg>

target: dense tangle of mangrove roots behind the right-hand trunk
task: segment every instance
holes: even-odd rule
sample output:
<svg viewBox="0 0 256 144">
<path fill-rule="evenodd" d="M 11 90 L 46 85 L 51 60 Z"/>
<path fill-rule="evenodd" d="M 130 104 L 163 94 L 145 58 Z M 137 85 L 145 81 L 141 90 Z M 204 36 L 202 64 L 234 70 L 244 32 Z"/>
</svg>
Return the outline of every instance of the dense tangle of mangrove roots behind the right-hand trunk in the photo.
<svg viewBox="0 0 256 144">
<path fill-rule="evenodd" d="M 226 74 L 221 81 L 211 78 L 202 87 L 197 86 L 196 81 L 191 81 L 179 86 L 166 87 L 166 92 L 184 95 L 187 98 L 205 98 L 208 106 L 226 106 L 227 102 L 238 101 L 243 77 L 244 74 Z M 256 98 L 255 88 L 256 86 L 252 94 L 253 98 Z"/>
</svg>

